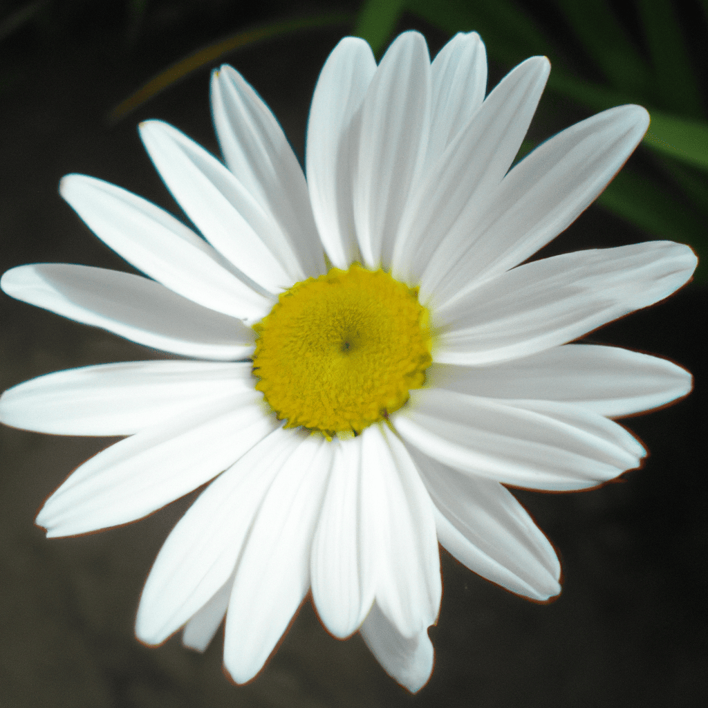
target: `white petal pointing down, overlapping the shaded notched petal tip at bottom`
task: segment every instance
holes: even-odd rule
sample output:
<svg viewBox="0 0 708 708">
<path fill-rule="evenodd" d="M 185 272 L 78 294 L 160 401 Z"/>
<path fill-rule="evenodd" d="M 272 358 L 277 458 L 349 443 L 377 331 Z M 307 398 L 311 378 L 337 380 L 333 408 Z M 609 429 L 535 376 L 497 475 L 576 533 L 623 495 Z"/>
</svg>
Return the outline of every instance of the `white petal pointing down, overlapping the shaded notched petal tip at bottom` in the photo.
<svg viewBox="0 0 708 708">
<path fill-rule="evenodd" d="M 433 503 L 408 450 L 387 426 L 371 426 L 361 437 L 362 573 L 375 575 L 384 615 L 414 637 L 440 610 Z"/>
</svg>

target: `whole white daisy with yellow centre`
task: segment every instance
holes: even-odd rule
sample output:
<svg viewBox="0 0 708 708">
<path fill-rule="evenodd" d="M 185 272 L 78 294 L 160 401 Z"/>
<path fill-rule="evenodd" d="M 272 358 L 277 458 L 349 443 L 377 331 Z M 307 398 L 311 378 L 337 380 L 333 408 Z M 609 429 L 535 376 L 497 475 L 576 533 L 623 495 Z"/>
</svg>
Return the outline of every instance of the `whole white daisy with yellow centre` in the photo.
<svg viewBox="0 0 708 708">
<path fill-rule="evenodd" d="M 405 33 L 378 67 L 346 38 L 314 93 L 306 182 L 267 106 L 222 67 L 212 105 L 227 167 L 163 122 L 140 127 L 205 240 L 114 185 L 62 180 L 148 278 L 24 265 L 5 292 L 212 360 L 57 372 L 1 399 L 11 426 L 129 436 L 49 498 L 49 536 L 141 518 L 214 479 L 155 561 L 139 639 L 184 627 L 204 649 L 225 615 L 224 663 L 241 683 L 312 590 L 332 634 L 360 631 L 416 691 L 433 666 L 438 541 L 514 593 L 559 593 L 551 544 L 503 485 L 586 489 L 639 464 L 644 449 L 610 418 L 683 396 L 690 375 L 568 342 L 666 297 L 696 258 L 651 241 L 520 265 L 588 207 L 649 122 L 635 105 L 607 110 L 510 170 L 548 73 L 532 57 L 484 99 L 474 33 L 432 64 Z"/>
</svg>

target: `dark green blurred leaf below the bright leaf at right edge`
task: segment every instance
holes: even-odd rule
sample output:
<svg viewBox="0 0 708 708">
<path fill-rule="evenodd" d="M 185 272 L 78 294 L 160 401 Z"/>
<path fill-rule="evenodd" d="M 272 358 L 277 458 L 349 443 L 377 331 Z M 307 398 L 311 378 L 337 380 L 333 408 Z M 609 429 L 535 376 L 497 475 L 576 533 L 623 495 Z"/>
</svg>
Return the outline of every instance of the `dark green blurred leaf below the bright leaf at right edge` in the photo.
<svg viewBox="0 0 708 708">
<path fill-rule="evenodd" d="M 619 172 L 598 198 L 598 204 L 656 238 L 687 243 L 700 259 L 708 258 L 704 218 L 647 178 L 627 170 Z M 705 265 L 699 265 L 695 280 L 705 282 L 707 271 Z"/>
</svg>

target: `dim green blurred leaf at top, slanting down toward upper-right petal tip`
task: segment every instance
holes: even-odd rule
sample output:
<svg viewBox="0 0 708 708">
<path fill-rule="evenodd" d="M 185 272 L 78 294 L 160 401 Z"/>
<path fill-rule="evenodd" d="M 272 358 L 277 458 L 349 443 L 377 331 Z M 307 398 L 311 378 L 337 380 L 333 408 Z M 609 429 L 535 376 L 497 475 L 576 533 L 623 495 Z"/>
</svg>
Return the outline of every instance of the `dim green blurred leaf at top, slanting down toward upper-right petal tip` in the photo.
<svg viewBox="0 0 708 708">
<path fill-rule="evenodd" d="M 607 0 L 556 0 L 556 4 L 610 83 L 622 91 L 633 91 L 644 101 L 650 98 L 649 71 Z"/>
</svg>

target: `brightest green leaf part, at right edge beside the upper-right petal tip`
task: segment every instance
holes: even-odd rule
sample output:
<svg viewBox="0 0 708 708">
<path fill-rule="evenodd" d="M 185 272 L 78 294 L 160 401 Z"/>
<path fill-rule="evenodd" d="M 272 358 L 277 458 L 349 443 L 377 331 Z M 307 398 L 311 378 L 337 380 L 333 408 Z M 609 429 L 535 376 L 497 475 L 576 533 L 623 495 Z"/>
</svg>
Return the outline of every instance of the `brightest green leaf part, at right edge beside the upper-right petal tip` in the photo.
<svg viewBox="0 0 708 708">
<path fill-rule="evenodd" d="M 708 122 L 651 110 L 644 144 L 687 164 L 708 171 Z"/>
</svg>

